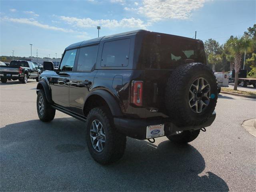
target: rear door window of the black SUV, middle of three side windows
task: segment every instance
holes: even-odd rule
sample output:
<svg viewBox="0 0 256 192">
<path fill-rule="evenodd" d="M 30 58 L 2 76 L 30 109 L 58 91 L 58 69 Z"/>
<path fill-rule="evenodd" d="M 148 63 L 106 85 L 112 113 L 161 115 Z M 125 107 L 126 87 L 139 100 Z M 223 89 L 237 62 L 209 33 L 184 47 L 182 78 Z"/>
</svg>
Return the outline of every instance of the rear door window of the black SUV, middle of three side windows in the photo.
<svg viewBox="0 0 256 192">
<path fill-rule="evenodd" d="M 98 53 L 98 45 L 80 48 L 77 71 L 91 71 Z"/>
</svg>

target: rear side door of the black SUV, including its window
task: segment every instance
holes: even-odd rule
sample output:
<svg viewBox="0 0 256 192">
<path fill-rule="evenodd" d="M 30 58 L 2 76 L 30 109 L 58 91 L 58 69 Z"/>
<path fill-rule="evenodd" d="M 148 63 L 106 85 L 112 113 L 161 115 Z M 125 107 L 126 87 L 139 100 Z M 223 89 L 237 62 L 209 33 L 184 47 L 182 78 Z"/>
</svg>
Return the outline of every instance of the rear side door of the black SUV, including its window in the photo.
<svg viewBox="0 0 256 192">
<path fill-rule="evenodd" d="M 80 48 L 78 62 L 70 79 L 70 110 L 80 115 L 83 115 L 85 98 L 97 73 L 94 70 L 97 54 L 98 45 Z"/>
</svg>

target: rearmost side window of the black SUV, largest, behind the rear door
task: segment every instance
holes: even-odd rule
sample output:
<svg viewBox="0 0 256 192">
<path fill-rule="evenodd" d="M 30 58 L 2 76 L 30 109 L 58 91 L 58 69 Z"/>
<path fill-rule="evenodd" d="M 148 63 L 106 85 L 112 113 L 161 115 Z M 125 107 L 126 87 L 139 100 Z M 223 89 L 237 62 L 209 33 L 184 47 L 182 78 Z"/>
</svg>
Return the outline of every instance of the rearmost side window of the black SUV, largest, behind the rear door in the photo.
<svg viewBox="0 0 256 192">
<path fill-rule="evenodd" d="M 102 67 L 128 66 L 130 39 L 105 42 L 102 50 Z"/>
</svg>

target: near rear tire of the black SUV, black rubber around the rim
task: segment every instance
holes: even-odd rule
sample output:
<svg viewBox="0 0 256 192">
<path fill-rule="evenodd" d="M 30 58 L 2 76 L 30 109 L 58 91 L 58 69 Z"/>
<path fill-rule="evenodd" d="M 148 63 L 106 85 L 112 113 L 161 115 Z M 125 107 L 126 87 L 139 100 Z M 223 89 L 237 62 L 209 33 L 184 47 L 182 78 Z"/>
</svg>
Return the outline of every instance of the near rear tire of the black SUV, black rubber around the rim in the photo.
<svg viewBox="0 0 256 192">
<path fill-rule="evenodd" d="M 90 127 L 94 120 L 99 120 L 102 123 L 106 135 L 105 146 L 101 152 L 96 151 L 91 142 Z M 93 108 L 88 113 L 86 143 L 92 158 L 100 164 L 111 164 L 122 158 L 126 148 L 126 136 L 117 132 L 111 112 L 107 108 Z"/>
</svg>

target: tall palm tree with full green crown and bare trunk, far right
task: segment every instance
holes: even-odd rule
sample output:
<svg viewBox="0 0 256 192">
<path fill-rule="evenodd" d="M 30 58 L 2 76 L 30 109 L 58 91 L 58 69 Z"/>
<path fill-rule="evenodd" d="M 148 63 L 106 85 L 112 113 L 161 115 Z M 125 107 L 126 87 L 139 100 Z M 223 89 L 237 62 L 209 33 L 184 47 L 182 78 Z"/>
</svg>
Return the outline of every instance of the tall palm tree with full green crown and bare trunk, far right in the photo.
<svg viewBox="0 0 256 192">
<path fill-rule="evenodd" d="M 237 90 L 238 73 L 241 67 L 242 54 L 251 53 L 254 49 L 255 41 L 248 36 L 235 37 L 227 41 L 229 52 L 234 55 L 235 84 L 234 90 Z"/>
</svg>

